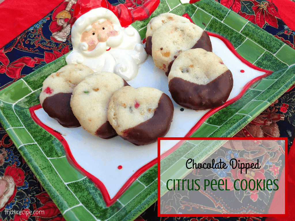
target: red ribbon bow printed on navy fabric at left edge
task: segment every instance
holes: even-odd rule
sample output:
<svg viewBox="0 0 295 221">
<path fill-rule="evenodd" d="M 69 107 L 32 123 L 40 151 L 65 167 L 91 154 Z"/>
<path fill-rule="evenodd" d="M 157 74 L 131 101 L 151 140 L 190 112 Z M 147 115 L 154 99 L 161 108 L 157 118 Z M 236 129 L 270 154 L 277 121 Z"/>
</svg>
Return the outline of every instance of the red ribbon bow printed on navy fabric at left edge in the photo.
<svg viewBox="0 0 295 221">
<path fill-rule="evenodd" d="M 8 57 L 4 53 L 4 48 L 0 50 L 0 74 L 6 74 L 8 77 L 11 78 L 19 78 L 21 76 L 20 72 L 22 68 L 27 65 L 29 67 L 34 67 L 39 60 L 35 57 L 34 59 L 30 57 L 21 57 L 16 61 L 10 63 Z"/>
</svg>

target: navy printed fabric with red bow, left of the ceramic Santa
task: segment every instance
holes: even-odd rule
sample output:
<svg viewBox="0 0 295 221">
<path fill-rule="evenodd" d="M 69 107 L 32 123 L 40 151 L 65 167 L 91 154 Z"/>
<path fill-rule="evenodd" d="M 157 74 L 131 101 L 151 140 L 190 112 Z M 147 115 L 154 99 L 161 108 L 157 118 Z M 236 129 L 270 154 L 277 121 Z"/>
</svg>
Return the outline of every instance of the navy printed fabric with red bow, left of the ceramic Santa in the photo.
<svg viewBox="0 0 295 221">
<path fill-rule="evenodd" d="M 0 89 L 72 49 L 71 21 L 76 1 L 65 1 L 0 50 Z"/>
</svg>

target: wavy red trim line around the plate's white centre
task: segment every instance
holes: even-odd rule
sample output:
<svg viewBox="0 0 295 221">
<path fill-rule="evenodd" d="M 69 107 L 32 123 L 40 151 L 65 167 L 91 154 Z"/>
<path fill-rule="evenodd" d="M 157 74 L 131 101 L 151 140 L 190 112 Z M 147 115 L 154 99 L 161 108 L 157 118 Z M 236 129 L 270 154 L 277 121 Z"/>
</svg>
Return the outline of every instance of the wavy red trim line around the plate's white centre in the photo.
<svg viewBox="0 0 295 221">
<path fill-rule="evenodd" d="M 239 58 L 244 64 L 248 65 L 249 67 L 255 69 L 255 70 L 259 70 L 259 71 L 263 71 L 265 72 L 264 75 L 260 76 L 260 77 L 256 77 L 253 80 L 249 81 L 241 90 L 241 92 L 235 97 L 232 98 L 230 100 L 228 100 L 226 103 L 224 103 L 222 106 L 219 106 L 217 108 L 214 108 L 212 110 L 209 110 L 209 112 L 207 112 L 196 124 L 195 126 L 193 126 L 189 132 L 184 136 L 184 137 L 189 137 L 191 136 L 200 126 L 202 123 L 204 123 L 205 120 L 207 120 L 208 117 L 212 116 L 214 113 L 216 113 L 218 110 L 221 110 L 222 108 L 234 103 L 235 101 L 239 100 L 242 95 L 244 95 L 244 93 L 246 92 L 246 90 L 255 82 L 257 82 L 258 80 L 260 80 L 263 77 L 266 77 L 268 75 L 270 75 L 272 73 L 272 71 L 269 70 L 264 70 L 261 69 L 259 67 L 256 67 L 255 65 L 251 64 L 250 62 L 248 62 L 247 60 L 245 60 L 242 56 L 240 56 L 236 51 L 235 51 L 235 47 L 230 43 L 230 41 L 228 41 L 227 39 L 225 39 L 224 37 L 218 35 L 218 34 L 214 34 L 214 33 L 210 33 L 207 32 L 210 36 L 212 37 L 217 37 L 219 39 L 221 39 L 224 44 L 230 49 L 230 51 L 237 57 Z M 114 204 L 117 199 L 119 199 L 120 196 L 122 196 L 122 194 L 125 192 L 126 189 L 128 189 L 131 184 L 137 179 L 137 177 L 139 177 L 143 172 L 145 172 L 147 169 L 149 169 L 150 167 L 152 167 L 153 165 L 155 165 L 157 163 L 157 158 L 153 159 L 152 161 L 150 161 L 148 164 L 142 166 L 140 169 L 138 169 L 126 182 L 125 184 L 121 187 L 121 189 L 119 189 L 119 191 L 117 192 L 117 194 L 111 199 L 109 196 L 109 193 L 106 189 L 106 187 L 104 186 L 104 184 L 96 177 L 94 177 L 92 174 L 90 174 L 89 172 L 87 172 L 85 169 L 83 169 L 78 163 L 77 161 L 74 159 L 71 150 L 68 146 L 68 143 L 65 141 L 65 139 L 63 138 L 63 136 L 58 133 L 57 131 L 54 131 L 52 128 L 48 127 L 47 125 L 43 124 L 39 118 L 37 118 L 36 114 L 35 114 L 35 110 L 42 108 L 41 105 L 35 105 L 33 107 L 30 107 L 30 114 L 33 118 L 33 120 L 40 125 L 42 128 L 44 128 L 46 131 L 48 131 L 49 133 L 51 133 L 53 136 L 55 136 L 56 138 L 58 138 L 58 140 L 63 144 L 64 148 L 65 148 L 65 153 L 66 153 L 66 157 L 68 159 L 68 161 L 70 162 L 70 164 L 72 164 L 72 166 L 74 168 L 76 168 L 78 171 L 80 171 L 82 174 L 84 174 L 85 176 L 87 176 L 92 182 L 94 182 L 94 184 L 99 188 L 99 190 L 101 191 L 101 194 L 104 198 L 104 201 L 106 202 L 106 206 L 109 207 L 112 204 Z M 178 149 L 179 146 L 181 146 L 183 144 L 183 140 L 179 141 L 176 145 L 174 145 L 171 149 L 169 149 L 168 151 L 166 151 L 165 153 L 163 153 L 160 156 L 160 159 L 163 159 L 164 157 L 168 156 L 169 154 L 171 154 L 173 151 L 175 151 L 176 149 Z M 159 156 L 159 155 L 158 155 Z"/>
</svg>

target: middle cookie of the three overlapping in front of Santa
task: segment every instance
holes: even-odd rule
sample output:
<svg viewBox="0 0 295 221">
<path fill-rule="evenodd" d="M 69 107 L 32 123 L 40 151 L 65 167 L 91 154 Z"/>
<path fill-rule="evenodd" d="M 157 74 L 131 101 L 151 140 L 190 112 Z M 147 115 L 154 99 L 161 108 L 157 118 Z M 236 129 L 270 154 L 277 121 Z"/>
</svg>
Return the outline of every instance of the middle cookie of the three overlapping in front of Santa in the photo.
<svg viewBox="0 0 295 221">
<path fill-rule="evenodd" d="M 94 136 L 109 139 L 117 135 L 106 118 L 109 101 L 115 91 L 128 83 L 111 72 L 95 72 L 73 91 L 71 108 L 81 126 Z"/>
</svg>

